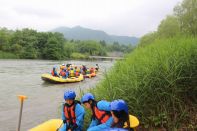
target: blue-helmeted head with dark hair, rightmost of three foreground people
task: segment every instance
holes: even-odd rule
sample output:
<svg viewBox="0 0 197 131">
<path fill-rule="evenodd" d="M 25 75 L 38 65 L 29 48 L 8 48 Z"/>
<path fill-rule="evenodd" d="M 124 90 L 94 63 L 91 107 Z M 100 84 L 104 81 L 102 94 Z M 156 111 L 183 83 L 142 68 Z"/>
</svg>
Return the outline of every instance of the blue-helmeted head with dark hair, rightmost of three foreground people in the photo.
<svg viewBox="0 0 197 131">
<path fill-rule="evenodd" d="M 128 106 L 124 100 L 114 100 L 110 103 L 111 114 L 114 123 L 120 123 L 123 126 L 128 120 Z"/>
</svg>

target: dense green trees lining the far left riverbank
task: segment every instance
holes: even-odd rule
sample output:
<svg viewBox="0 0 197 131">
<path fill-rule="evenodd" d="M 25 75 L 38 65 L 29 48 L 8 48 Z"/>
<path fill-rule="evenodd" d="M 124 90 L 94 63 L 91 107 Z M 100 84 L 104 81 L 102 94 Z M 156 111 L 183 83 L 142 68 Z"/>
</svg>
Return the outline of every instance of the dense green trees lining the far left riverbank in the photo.
<svg viewBox="0 0 197 131">
<path fill-rule="evenodd" d="M 89 55 L 106 56 L 112 51 L 127 53 L 132 49 L 132 45 L 118 42 L 67 40 L 57 32 L 0 28 L 0 54 L 6 52 L 22 59 L 82 59 Z"/>
</svg>

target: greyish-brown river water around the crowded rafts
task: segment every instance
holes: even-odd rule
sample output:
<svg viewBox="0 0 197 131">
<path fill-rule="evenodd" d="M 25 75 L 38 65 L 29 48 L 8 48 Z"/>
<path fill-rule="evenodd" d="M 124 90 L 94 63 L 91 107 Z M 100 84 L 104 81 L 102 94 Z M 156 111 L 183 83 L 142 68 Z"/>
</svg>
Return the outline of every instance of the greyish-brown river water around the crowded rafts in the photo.
<svg viewBox="0 0 197 131">
<path fill-rule="evenodd" d="M 87 66 L 98 63 L 101 70 L 95 78 L 79 83 L 49 84 L 41 80 L 42 73 L 50 72 L 54 65 L 62 63 Z M 21 123 L 21 131 L 26 131 L 46 120 L 61 118 L 64 91 L 93 88 L 112 65 L 113 62 L 107 61 L 0 60 L 0 131 L 15 131 L 17 128 L 20 108 L 17 95 L 28 97 Z"/>
</svg>

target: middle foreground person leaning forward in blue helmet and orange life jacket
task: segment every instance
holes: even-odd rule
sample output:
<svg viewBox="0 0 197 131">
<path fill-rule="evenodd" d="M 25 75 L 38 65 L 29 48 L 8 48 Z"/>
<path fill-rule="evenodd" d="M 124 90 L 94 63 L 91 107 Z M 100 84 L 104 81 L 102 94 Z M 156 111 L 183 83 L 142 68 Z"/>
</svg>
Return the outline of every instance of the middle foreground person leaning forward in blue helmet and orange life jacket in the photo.
<svg viewBox="0 0 197 131">
<path fill-rule="evenodd" d="M 113 122 L 110 113 L 110 102 L 96 101 L 91 93 L 85 94 L 81 102 L 92 111 L 92 120 L 87 131 L 102 131 L 109 128 Z"/>
</svg>

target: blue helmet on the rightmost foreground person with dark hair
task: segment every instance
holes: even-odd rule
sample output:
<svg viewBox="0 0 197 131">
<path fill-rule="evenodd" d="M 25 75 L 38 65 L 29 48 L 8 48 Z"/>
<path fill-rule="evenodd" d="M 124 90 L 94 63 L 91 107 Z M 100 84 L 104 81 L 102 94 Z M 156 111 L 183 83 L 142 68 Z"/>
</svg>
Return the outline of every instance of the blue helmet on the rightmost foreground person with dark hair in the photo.
<svg viewBox="0 0 197 131">
<path fill-rule="evenodd" d="M 126 113 L 128 113 L 128 106 L 124 100 L 114 100 L 110 103 L 111 110 L 115 111 L 121 111 L 124 110 Z"/>
</svg>

